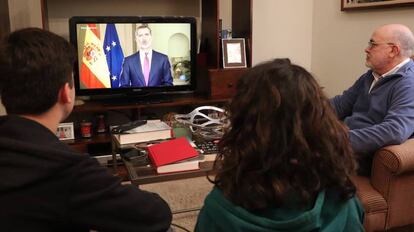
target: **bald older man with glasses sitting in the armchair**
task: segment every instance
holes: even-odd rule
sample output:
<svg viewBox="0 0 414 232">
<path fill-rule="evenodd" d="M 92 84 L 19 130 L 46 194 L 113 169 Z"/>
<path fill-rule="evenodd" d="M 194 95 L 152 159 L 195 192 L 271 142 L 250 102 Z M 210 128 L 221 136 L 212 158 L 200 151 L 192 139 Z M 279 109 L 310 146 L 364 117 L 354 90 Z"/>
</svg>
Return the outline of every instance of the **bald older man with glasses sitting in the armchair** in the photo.
<svg viewBox="0 0 414 232">
<path fill-rule="evenodd" d="M 388 24 L 377 28 L 365 49 L 365 65 L 370 69 L 331 99 L 336 114 L 349 127 L 361 175 L 370 175 L 376 150 L 400 144 L 414 133 L 413 47 L 408 27 Z"/>
</svg>

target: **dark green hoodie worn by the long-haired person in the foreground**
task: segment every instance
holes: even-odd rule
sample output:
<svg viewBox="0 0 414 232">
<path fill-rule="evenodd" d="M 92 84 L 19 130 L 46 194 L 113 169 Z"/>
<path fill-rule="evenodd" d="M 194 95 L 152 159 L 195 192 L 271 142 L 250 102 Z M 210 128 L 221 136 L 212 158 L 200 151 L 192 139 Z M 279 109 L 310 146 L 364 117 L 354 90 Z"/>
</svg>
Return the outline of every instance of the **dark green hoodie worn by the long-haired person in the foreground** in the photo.
<svg viewBox="0 0 414 232">
<path fill-rule="evenodd" d="M 268 209 L 252 213 L 226 200 L 214 188 L 204 201 L 195 231 L 364 231 L 364 212 L 357 198 L 346 202 L 338 194 L 319 193 L 308 210 Z"/>
</svg>

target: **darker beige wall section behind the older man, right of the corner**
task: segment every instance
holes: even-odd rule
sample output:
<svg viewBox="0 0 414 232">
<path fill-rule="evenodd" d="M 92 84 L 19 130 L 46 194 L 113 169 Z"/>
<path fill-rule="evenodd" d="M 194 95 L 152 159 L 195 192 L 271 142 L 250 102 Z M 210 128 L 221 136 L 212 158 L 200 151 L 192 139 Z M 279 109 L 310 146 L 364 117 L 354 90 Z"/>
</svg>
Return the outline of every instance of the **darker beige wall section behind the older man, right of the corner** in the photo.
<svg viewBox="0 0 414 232">
<path fill-rule="evenodd" d="M 313 0 L 311 71 L 330 96 L 366 71 L 364 49 L 372 31 L 402 23 L 414 31 L 414 7 L 342 12 L 339 0 Z"/>
</svg>

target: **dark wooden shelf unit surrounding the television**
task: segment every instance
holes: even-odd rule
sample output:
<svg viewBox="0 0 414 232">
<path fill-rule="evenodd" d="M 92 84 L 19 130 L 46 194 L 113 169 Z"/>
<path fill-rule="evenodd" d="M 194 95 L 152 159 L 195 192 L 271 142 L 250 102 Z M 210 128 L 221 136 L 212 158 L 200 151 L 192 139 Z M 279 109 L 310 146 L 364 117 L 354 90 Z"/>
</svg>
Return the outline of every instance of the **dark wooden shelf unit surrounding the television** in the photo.
<svg viewBox="0 0 414 232">
<path fill-rule="evenodd" d="M 73 114 L 106 112 L 109 110 L 141 111 L 150 108 L 200 106 L 223 104 L 234 94 L 238 77 L 245 71 L 240 69 L 220 69 L 221 41 L 219 25 L 220 0 L 40 0 L 43 27 L 63 37 L 69 38 L 68 20 L 72 16 L 193 16 L 197 19 L 197 35 L 202 43 L 200 51 L 206 58 L 205 64 L 198 65 L 197 93 L 171 102 L 157 104 L 118 104 L 106 105 L 101 102 L 87 102 L 76 106 Z M 233 37 L 246 39 L 247 66 L 252 63 L 252 0 L 232 0 Z M 66 141 L 73 148 L 89 152 L 89 146 L 110 143 L 109 134 L 93 136 L 90 139 Z"/>
</svg>

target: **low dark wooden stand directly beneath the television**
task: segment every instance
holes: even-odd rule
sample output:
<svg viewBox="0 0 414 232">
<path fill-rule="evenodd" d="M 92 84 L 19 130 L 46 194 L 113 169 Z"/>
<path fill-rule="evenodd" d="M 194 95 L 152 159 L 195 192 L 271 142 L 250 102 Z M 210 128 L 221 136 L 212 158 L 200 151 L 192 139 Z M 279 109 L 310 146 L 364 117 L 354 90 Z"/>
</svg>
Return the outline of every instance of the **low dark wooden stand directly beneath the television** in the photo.
<svg viewBox="0 0 414 232">
<path fill-rule="evenodd" d="M 135 101 L 134 101 L 135 100 Z M 124 112 L 131 114 L 132 118 L 130 120 L 137 120 L 140 118 L 146 118 L 147 113 L 155 111 L 159 113 L 159 118 L 163 116 L 166 112 L 178 112 L 178 113 L 188 113 L 193 108 L 203 105 L 214 105 L 214 106 L 223 106 L 228 103 L 230 100 L 228 97 L 216 97 L 212 98 L 209 96 L 182 96 L 182 97 L 171 97 L 169 99 L 156 99 L 159 102 L 139 102 L 136 99 L 128 99 L 122 101 L 121 99 L 105 99 L 105 100 L 88 100 L 85 101 L 83 105 L 75 106 L 71 117 L 67 122 L 73 122 L 75 126 L 75 139 L 65 140 L 72 148 L 89 153 L 91 155 L 103 155 L 111 153 L 111 136 L 109 132 L 92 134 L 91 138 L 81 138 L 79 136 L 79 125 L 80 122 L 84 119 L 90 119 L 90 116 L 96 114 L 108 114 L 108 112 Z M 121 102 L 122 101 L 122 102 Z M 129 101 L 129 102 L 128 102 Z M 155 101 L 155 100 L 154 100 Z M 91 122 L 95 125 L 92 117 Z M 111 118 L 107 119 L 107 126 L 111 125 Z M 107 130 L 108 131 L 108 130 Z M 109 149 L 106 151 L 106 148 Z M 104 151 L 102 151 L 104 150 Z"/>
</svg>

